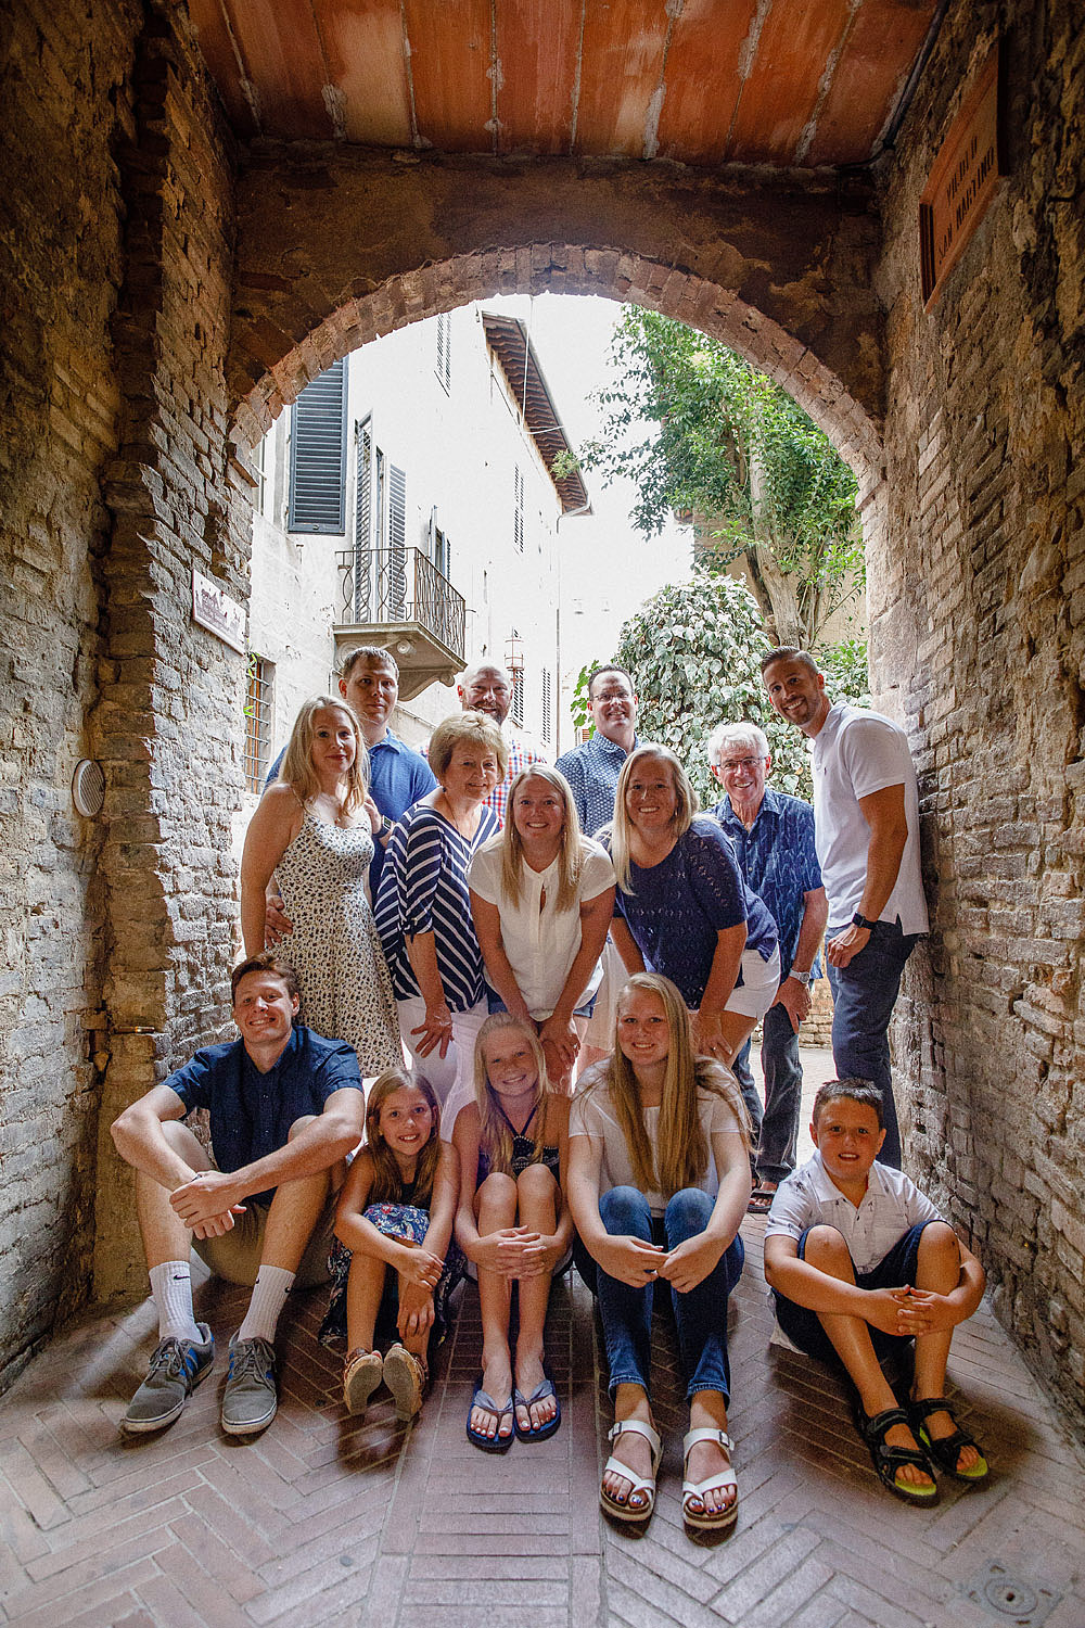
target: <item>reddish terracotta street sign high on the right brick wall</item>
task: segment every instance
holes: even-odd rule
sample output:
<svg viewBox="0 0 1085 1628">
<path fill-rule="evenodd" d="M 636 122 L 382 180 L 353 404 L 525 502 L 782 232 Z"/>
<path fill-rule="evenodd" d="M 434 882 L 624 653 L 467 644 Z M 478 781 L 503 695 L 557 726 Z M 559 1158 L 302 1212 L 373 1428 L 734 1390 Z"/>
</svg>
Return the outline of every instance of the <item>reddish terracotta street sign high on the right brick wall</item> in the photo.
<svg viewBox="0 0 1085 1628">
<path fill-rule="evenodd" d="M 999 47 L 994 46 L 950 127 L 919 200 L 919 259 L 927 311 L 984 217 L 999 166 Z"/>
</svg>

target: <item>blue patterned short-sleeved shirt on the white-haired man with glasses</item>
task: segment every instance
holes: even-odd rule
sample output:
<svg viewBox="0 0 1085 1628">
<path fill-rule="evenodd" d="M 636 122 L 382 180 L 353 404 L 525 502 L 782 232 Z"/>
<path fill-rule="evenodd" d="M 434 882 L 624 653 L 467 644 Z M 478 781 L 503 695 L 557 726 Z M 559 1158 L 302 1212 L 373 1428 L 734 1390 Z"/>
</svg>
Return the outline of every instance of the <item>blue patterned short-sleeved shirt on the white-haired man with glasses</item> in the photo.
<svg viewBox="0 0 1085 1628">
<path fill-rule="evenodd" d="M 765 788 L 761 807 L 750 830 L 724 798 L 711 809 L 730 837 L 747 887 L 763 899 L 779 928 L 779 970 L 787 977 L 799 947 L 805 915 L 805 894 L 821 886 L 821 868 L 813 848 L 813 809 L 802 798 Z M 821 977 L 815 957 L 813 972 Z"/>
</svg>

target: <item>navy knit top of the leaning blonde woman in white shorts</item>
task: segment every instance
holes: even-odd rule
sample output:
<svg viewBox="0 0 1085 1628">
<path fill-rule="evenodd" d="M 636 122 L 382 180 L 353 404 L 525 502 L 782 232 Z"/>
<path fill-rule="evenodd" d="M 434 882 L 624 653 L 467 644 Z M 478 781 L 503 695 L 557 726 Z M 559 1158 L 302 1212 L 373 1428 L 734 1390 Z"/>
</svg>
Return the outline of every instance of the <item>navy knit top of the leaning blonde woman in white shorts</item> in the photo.
<svg viewBox="0 0 1085 1628">
<path fill-rule="evenodd" d="M 742 923 L 747 949 L 761 961 L 776 949 L 776 923 L 745 886 L 730 838 L 714 819 L 698 816 L 659 864 L 630 864 L 630 884 L 631 892 L 615 894 L 615 915 L 625 917 L 644 965 L 677 983 L 690 1008 L 704 998 L 726 928 Z"/>
</svg>

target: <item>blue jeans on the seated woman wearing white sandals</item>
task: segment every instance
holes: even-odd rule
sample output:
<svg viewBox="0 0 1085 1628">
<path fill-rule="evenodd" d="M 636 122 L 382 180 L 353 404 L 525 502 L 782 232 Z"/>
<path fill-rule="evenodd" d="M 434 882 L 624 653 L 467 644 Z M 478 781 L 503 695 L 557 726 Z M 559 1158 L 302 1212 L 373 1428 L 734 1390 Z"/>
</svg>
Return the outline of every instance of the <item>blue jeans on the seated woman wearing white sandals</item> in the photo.
<svg viewBox="0 0 1085 1628">
<path fill-rule="evenodd" d="M 675 1249 L 703 1232 L 712 1214 L 716 1200 L 699 1187 L 683 1187 L 675 1193 L 662 1216 L 652 1216 L 644 1193 L 636 1187 L 612 1187 L 599 1200 L 599 1214 L 607 1231 L 615 1237 L 641 1237 L 646 1244 L 662 1244 Z M 579 1241 L 577 1241 L 579 1244 Z M 686 1294 L 670 1291 L 678 1327 L 678 1354 L 685 1374 L 686 1400 L 695 1390 L 721 1390 L 730 1397 L 730 1368 L 727 1364 L 727 1296 L 742 1275 L 745 1250 L 735 1237 L 719 1257 L 717 1265 Z M 608 1276 L 587 1255 L 581 1244 L 576 1249 L 576 1265 L 589 1289 L 599 1299 L 599 1315 L 607 1341 L 607 1366 L 610 1369 L 610 1395 L 618 1385 L 643 1385 L 647 1392 L 652 1341 L 652 1293 L 647 1283 L 634 1289 L 618 1278 Z"/>
</svg>

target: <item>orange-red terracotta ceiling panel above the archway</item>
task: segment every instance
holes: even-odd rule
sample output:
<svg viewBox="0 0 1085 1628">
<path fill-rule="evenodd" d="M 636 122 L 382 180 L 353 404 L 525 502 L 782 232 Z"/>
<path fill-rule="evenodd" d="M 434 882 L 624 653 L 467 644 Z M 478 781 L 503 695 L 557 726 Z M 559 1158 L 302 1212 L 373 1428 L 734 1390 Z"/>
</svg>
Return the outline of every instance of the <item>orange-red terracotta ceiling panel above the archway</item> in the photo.
<svg viewBox="0 0 1085 1628">
<path fill-rule="evenodd" d="M 190 0 L 242 138 L 857 164 L 937 0 Z"/>
</svg>

